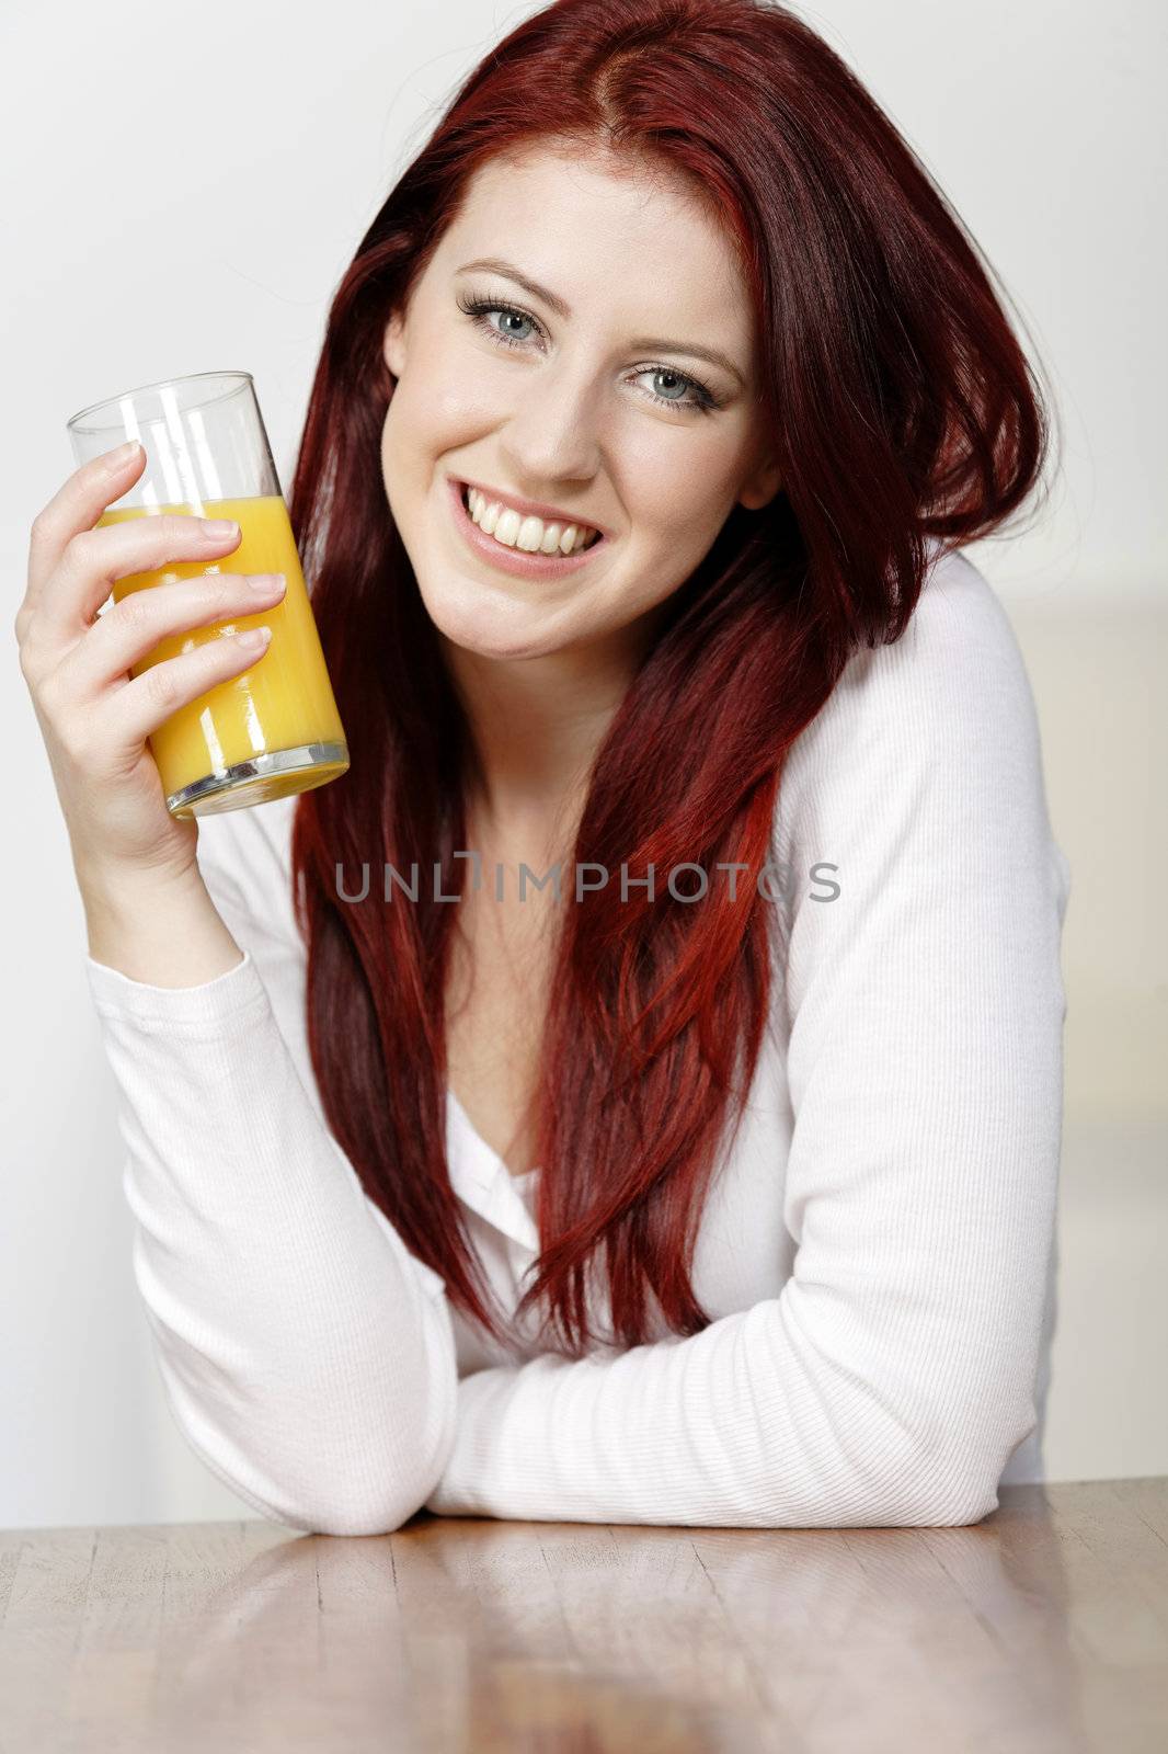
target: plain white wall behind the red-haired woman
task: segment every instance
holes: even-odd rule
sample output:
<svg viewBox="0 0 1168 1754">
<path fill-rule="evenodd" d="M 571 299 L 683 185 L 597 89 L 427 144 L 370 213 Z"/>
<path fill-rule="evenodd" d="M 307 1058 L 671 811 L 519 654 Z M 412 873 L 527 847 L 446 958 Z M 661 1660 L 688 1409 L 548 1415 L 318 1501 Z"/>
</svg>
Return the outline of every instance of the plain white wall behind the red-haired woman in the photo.
<svg viewBox="0 0 1168 1754">
<path fill-rule="evenodd" d="M 7 0 L 0 16 L 9 626 L 63 423 L 246 368 L 284 484 L 331 289 L 458 77 L 530 7 L 410 14 Z M 1068 1149 L 1052 1479 L 1168 1473 L 1164 1219 L 1166 298 L 1163 12 L 835 0 L 805 16 L 891 111 L 1003 275 L 1063 396 L 1045 524 L 973 558 L 1031 667 L 1066 930 Z M 68 842 L 11 633 L 0 672 L 7 1089 L 0 1526 L 249 1515 L 170 1422 L 130 1268 L 114 1086 Z M 1142 1373 L 1147 1377 L 1142 1380 Z"/>
</svg>

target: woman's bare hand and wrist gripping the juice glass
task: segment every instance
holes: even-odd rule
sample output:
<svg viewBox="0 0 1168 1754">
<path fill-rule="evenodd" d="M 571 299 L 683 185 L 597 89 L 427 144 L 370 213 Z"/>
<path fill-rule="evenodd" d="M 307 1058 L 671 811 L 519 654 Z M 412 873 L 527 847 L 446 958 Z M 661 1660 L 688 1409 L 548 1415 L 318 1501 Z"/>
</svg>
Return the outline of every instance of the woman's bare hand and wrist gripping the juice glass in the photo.
<svg viewBox="0 0 1168 1754">
<path fill-rule="evenodd" d="M 198 823 L 167 809 L 146 738 L 216 682 L 254 667 L 267 647 L 221 635 L 139 677 L 130 667 L 167 635 L 275 607 L 284 584 L 270 574 L 205 574 L 132 591 L 98 614 L 116 579 L 212 565 L 240 542 L 239 526 L 207 537 L 202 519 L 186 514 L 95 530 L 146 463 L 140 446 L 110 467 L 112 458 L 118 453 L 84 463 L 33 519 L 28 588 L 16 614 L 21 672 L 77 872 L 181 879 L 195 868 Z"/>
</svg>

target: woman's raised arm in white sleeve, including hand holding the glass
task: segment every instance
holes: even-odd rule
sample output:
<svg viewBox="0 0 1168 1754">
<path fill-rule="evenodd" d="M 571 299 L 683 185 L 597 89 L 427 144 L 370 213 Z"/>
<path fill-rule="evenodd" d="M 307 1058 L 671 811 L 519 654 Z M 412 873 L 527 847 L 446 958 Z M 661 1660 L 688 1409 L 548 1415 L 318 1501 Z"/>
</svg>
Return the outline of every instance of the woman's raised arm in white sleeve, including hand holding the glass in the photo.
<svg viewBox="0 0 1168 1754">
<path fill-rule="evenodd" d="M 139 679 L 126 670 L 163 633 L 228 619 L 246 584 L 167 584 L 137 593 L 133 619 L 123 603 L 95 621 L 112 579 L 196 553 L 174 528 L 196 519 L 91 528 L 123 475 L 110 488 L 88 465 L 46 507 L 16 633 L 86 903 L 135 1279 L 170 1407 L 205 1465 L 291 1528 L 384 1533 L 423 1507 L 452 1444 L 444 1282 L 365 1196 L 309 1093 L 295 1040 L 303 947 L 224 856 L 260 842 L 219 831 L 203 849 L 200 824 L 165 809 L 153 723 L 254 654 L 231 658 L 219 638 Z M 168 682 L 149 682 L 170 665 Z"/>
</svg>

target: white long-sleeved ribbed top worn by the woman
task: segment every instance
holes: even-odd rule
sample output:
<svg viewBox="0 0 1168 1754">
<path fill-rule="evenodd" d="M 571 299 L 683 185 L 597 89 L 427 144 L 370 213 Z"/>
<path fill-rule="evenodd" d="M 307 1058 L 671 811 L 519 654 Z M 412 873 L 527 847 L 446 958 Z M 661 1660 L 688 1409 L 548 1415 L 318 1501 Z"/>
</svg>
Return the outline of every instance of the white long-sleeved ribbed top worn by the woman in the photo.
<svg viewBox="0 0 1168 1754">
<path fill-rule="evenodd" d="M 996 1508 L 1000 1480 L 1042 1479 L 1070 872 L 1026 670 L 965 556 L 935 568 L 896 645 L 852 654 L 791 751 L 777 856 L 837 870 L 791 902 L 773 1026 L 703 1212 L 693 1284 L 712 1319 L 691 1338 L 500 1352 L 367 1200 L 309 1061 L 295 805 L 200 823 L 233 970 L 154 988 L 86 956 L 167 1398 L 240 1498 L 331 1535 L 423 1505 L 961 1524 Z M 452 1096 L 447 1158 L 512 1312 L 538 1172 L 512 1177 Z"/>
</svg>

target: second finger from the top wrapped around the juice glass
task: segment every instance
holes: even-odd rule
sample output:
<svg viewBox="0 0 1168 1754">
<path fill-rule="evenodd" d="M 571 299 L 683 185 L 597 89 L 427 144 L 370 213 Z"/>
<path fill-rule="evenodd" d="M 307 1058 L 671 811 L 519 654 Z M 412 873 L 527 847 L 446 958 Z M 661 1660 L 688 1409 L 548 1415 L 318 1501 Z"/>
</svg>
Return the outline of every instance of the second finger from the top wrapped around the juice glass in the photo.
<svg viewBox="0 0 1168 1754">
<path fill-rule="evenodd" d="M 167 512 L 128 517 L 125 523 L 70 537 L 56 572 L 40 591 L 30 635 L 35 631 L 51 658 L 89 631 L 118 579 L 167 567 L 214 565 L 242 540 L 239 524 L 231 523 L 230 531 L 216 533 L 214 523 L 216 519 L 205 521 L 186 512 Z"/>
</svg>

